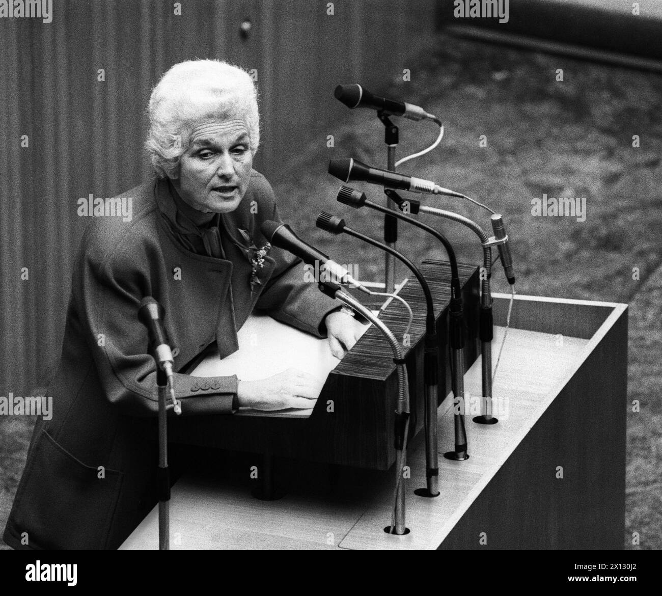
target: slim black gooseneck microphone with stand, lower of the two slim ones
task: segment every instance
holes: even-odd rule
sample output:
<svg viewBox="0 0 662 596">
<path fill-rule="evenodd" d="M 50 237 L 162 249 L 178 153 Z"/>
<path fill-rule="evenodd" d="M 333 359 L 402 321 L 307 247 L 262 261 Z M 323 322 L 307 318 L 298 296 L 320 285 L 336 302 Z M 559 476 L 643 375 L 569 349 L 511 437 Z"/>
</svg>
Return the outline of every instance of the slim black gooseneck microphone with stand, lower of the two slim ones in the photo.
<svg viewBox="0 0 662 596">
<path fill-rule="evenodd" d="M 423 384 L 425 387 L 425 457 L 426 457 L 426 488 L 416 489 L 414 493 L 419 497 L 438 497 L 440 495 L 438 489 L 439 477 L 439 464 L 438 464 L 438 422 L 437 422 L 437 408 L 438 408 L 438 394 L 439 394 L 439 340 L 437 338 L 437 324 L 434 317 L 434 303 L 432 301 L 432 292 L 430 285 L 423 277 L 418 268 L 404 256 L 401 252 L 386 246 L 381 242 L 377 242 L 370 236 L 365 236 L 361 232 L 357 232 L 345 224 L 344 219 L 333 217 L 327 213 L 321 213 L 317 218 L 316 225 L 322 230 L 331 232 L 332 234 L 340 234 L 344 232 L 348 236 L 353 236 L 358 240 L 363 240 L 367 244 L 381 248 L 395 258 L 401 260 L 402 263 L 416 276 L 420 287 L 423 290 L 426 302 L 426 319 L 425 319 L 425 351 L 423 355 Z"/>
</svg>

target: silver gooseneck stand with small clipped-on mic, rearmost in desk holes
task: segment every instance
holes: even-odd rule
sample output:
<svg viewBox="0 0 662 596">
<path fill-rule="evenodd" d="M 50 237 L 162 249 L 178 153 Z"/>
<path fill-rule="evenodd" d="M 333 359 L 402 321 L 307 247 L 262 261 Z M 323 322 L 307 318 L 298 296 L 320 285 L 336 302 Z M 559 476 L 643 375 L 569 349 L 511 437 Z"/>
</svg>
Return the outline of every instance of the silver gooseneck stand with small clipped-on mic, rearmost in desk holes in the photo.
<svg viewBox="0 0 662 596">
<path fill-rule="evenodd" d="M 453 211 L 445 211 L 444 209 L 437 209 L 436 207 L 426 207 L 420 205 L 420 201 L 410 200 L 404 201 L 402 197 L 395 191 L 387 191 L 387 194 L 397 203 L 398 207 L 404 209 L 404 203 L 408 203 L 410 213 L 416 215 L 417 213 L 427 213 L 428 215 L 436 215 L 437 217 L 444 217 L 457 223 L 463 224 L 472 230 L 481 240 L 483 246 L 483 268 L 485 269 L 485 279 L 481 280 L 482 293 L 481 293 L 481 311 L 479 317 L 479 339 L 481 340 L 481 374 L 483 385 L 483 399 L 485 399 L 485 414 L 477 416 L 473 419 L 477 424 L 496 424 L 498 419 L 492 415 L 492 340 L 494 337 L 494 322 L 492 315 L 492 292 L 490 289 L 490 279 L 492 277 L 492 246 L 498 244 L 495 238 L 489 238 L 487 233 L 479 224 L 471 219 L 453 213 Z"/>
</svg>

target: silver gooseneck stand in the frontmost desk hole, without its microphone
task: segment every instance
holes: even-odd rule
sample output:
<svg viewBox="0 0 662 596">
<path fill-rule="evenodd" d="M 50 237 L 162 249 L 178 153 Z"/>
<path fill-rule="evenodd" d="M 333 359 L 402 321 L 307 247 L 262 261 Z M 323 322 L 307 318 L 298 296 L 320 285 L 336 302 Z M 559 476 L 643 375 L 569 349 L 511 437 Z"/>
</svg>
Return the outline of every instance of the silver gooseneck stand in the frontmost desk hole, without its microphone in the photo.
<svg viewBox="0 0 662 596">
<path fill-rule="evenodd" d="M 395 507 L 391 524 L 384 528 L 388 534 L 398 534 L 403 536 L 409 533 L 409 528 L 405 524 L 405 487 L 402 470 L 406 466 L 406 439 L 409 429 L 409 386 L 407 381 L 407 370 L 402 358 L 402 348 L 400 343 L 393 335 L 393 332 L 375 315 L 370 309 L 363 306 L 350 293 L 344 291 L 337 283 L 322 281 L 318 285 L 320 291 L 331 298 L 336 298 L 350 307 L 353 311 L 359 313 L 377 327 L 387 338 L 391 350 L 393 350 L 393 362 L 398 373 L 398 399 L 395 409 Z"/>
</svg>

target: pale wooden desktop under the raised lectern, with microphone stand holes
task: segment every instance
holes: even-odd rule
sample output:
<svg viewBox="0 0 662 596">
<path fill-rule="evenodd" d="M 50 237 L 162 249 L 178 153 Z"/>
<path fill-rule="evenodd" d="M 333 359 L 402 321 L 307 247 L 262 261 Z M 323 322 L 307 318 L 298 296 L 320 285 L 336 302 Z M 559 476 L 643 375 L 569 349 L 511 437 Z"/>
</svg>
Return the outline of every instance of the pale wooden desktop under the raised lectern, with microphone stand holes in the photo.
<svg viewBox="0 0 662 596">
<path fill-rule="evenodd" d="M 495 328 L 493 363 L 504 328 Z M 421 436 L 408 448 L 412 479 L 407 483 L 406 523 L 412 532 L 391 536 L 389 524 L 393 473 L 341 470 L 338 489 L 320 494 L 314 487 L 288 493 L 278 501 L 259 501 L 246 483 L 182 477 L 172 489 L 171 548 L 175 549 L 434 549 L 503 466 L 559 389 L 594 347 L 595 340 L 511 328 L 495 379 L 495 398 L 507 412 L 495 413 L 494 426 L 466 417 L 469 460 L 440 457 L 440 497 L 417 497 L 425 485 Z M 493 364 L 493 366 L 494 366 Z M 481 364 L 465 375 L 467 407 L 481 395 Z M 509 397 L 510 399 L 506 399 Z M 452 399 L 439 411 L 440 454 L 453 446 Z M 421 433 L 422 435 L 422 433 Z M 343 475 L 347 472 L 346 475 Z M 155 508 L 121 549 L 158 548 Z"/>
</svg>

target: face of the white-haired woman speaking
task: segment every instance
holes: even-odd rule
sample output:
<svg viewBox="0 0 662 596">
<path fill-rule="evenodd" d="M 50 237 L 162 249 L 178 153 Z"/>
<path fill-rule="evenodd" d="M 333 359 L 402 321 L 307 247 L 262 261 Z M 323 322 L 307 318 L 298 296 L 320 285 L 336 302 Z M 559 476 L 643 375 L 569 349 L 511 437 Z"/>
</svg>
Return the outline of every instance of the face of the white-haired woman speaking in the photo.
<svg viewBox="0 0 662 596">
<path fill-rule="evenodd" d="M 181 198 L 204 213 L 229 213 L 239 207 L 253 165 L 250 136 L 243 120 L 208 122 L 191 134 L 172 183 Z"/>
</svg>

